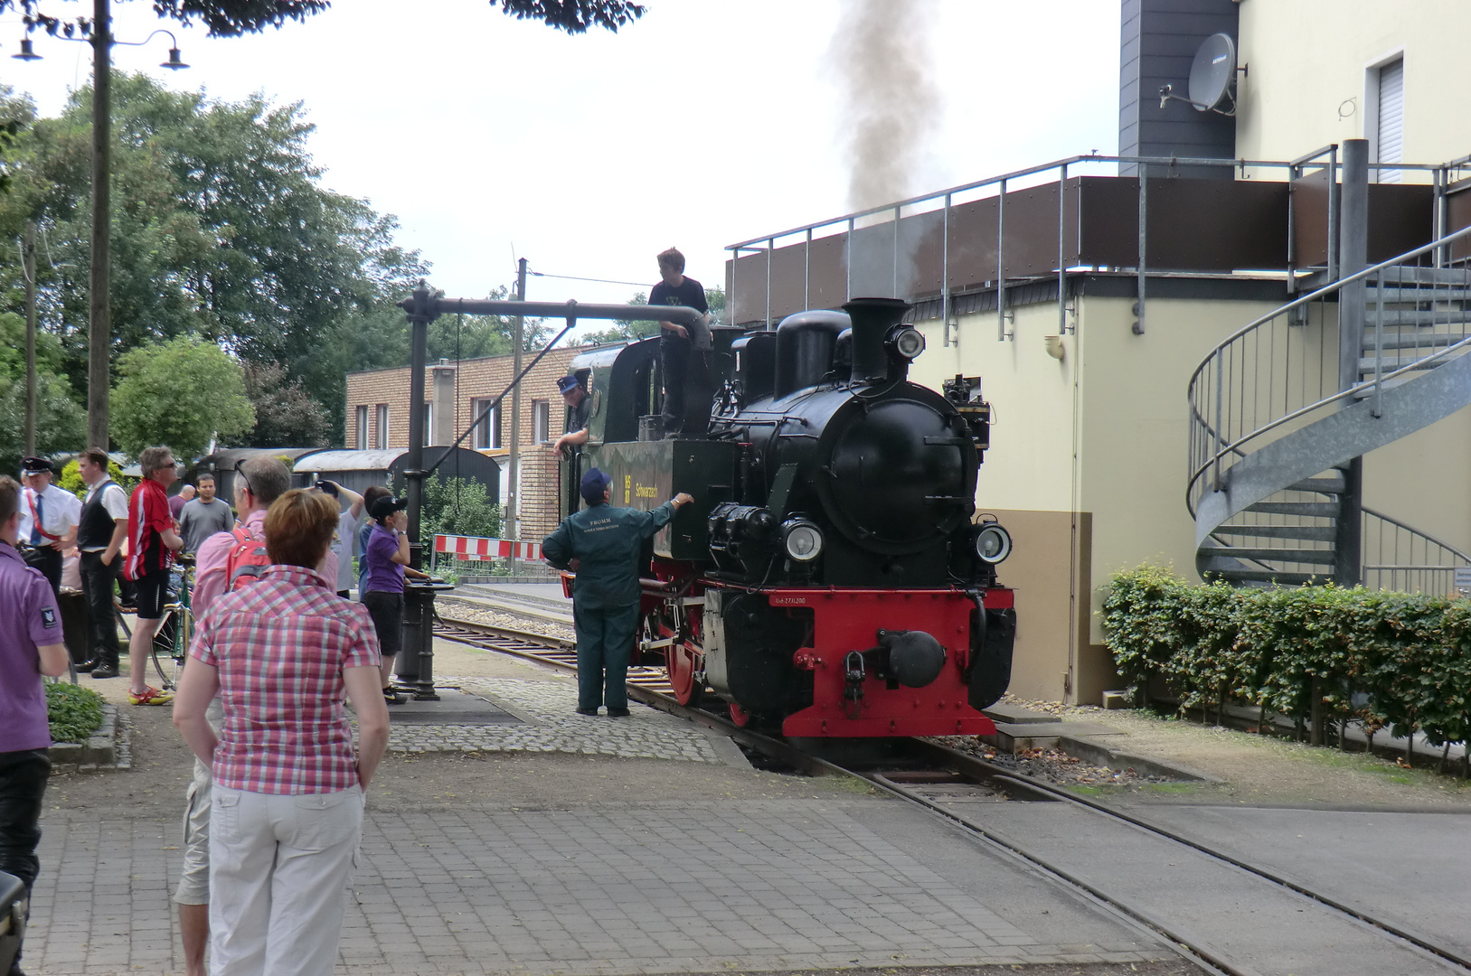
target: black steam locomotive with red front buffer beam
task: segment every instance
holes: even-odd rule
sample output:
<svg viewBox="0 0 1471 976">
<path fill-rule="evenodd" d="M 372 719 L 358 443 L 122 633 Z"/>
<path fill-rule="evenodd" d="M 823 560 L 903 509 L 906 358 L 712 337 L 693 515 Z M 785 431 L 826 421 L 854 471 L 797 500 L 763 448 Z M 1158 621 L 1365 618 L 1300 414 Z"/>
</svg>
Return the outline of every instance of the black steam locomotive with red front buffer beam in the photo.
<svg viewBox="0 0 1471 976">
<path fill-rule="evenodd" d="M 956 376 L 908 381 L 909 304 L 858 298 L 775 331 L 710 329 L 681 431 L 658 429 L 659 340 L 585 353 L 588 442 L 613 504 L 688 492 L 643 563 L 633 661 L 681 703 L 712 689 L 740 725 L 793 738 L 986 735 L 1011 681 L 1011 537 L 974 519 L 990 406 Z"/>
</svg>

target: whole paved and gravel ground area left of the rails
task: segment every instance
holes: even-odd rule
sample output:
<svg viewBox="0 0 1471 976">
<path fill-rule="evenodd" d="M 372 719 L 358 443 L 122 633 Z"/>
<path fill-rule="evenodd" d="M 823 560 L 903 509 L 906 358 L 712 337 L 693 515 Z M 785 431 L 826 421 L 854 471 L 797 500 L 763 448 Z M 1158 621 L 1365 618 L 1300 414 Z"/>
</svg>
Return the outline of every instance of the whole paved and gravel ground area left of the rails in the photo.
<svg viewBox="0 0 1471 976">
<path fill-rule="evenodd" d="M 728 739 L 638 704 L 578 716 L 575 682 L 535 664 L 435 653 L 453 676 L 437 683 L 509 719 L 394 717 L 337 973 L 1125 973 L 1174 958 L 902 801 L 759 772 Z M 53 782 L 28 972 L 182 972 L 169 897 L 191 757 L 169 711 L 127 713 L 131 770 Z"/>
</svg>

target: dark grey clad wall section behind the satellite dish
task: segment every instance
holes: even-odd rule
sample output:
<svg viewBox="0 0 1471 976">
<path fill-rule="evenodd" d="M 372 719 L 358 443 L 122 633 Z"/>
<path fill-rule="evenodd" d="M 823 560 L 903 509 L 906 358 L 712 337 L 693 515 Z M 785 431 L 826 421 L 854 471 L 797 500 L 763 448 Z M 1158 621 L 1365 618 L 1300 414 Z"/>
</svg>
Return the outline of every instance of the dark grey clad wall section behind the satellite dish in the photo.
<svg viewBox="0 0 1471 976">
<path fill-rule="evenodd" d="M 1184 101 L 1159 107 L 1159 88 L 1189 94 L 1190 65 L 1212 34 L 1237 37 L 1236 0 L 1122 0 L 1118 84 L 1121 156 L 1236 157 L 1236 119 Z M 1121 175 L 1137 175 L 1121 166 Z M 1230 178 L 1228 166 L 1180 168 L 1181 176 Z"/>
</svg>

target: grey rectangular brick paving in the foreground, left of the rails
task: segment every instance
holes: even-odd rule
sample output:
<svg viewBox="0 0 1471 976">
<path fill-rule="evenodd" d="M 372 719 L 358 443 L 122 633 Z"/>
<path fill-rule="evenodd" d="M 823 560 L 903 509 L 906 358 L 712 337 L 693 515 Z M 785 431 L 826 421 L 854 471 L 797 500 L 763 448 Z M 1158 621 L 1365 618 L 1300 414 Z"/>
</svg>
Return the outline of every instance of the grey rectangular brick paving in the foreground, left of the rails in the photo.
<svg viewBox="0 0 1471 976">
<path fill-rule="evenodd" d="M 865 826 L 849 808 L 862 804 L 369 810 L 337 972 L 552 976 L 1165 957 L 1124 930 L 1058 944 L 1046 913 L 1024 930 Z M 32 922 L 28 967 L 177 972 L 169 889 L 178 836 L 178 823 L 165 820 L 50 825 L 35 892 L 50 910 Z"/>
</svg>

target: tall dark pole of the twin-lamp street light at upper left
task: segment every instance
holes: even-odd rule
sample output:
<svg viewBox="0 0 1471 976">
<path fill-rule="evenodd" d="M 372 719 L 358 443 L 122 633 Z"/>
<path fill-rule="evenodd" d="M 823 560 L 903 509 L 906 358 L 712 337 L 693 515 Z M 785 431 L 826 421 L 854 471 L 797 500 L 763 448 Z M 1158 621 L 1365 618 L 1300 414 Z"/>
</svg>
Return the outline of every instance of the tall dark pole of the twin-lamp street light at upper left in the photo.
<svg viewBox="0 0 1471 976">
<path fill-rule="evenodd" d="M 109 448 L 107 394 L 112 384 L 112 0 L 93 0 L 93 238 L 87 337 L 87 444 Z"/>
</svg>

